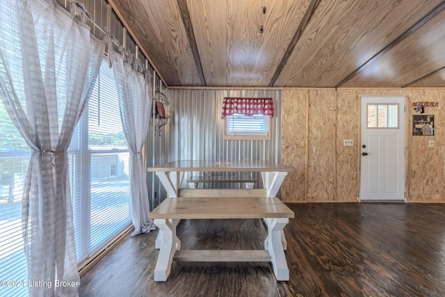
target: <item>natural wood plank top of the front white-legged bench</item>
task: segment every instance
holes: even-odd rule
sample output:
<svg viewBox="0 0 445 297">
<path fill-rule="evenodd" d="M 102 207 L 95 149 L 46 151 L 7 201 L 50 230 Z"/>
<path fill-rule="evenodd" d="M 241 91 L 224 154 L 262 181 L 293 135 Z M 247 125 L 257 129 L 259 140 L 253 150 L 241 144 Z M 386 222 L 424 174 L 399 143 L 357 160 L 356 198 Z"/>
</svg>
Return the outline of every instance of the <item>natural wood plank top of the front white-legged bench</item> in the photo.
<svg viewBox="0 0 445 297">
<path fill-rule="evenodd" d="M 278 198 L 166 198 L 149 218 L 293 218 L 295 215 Z"/>
</svg>

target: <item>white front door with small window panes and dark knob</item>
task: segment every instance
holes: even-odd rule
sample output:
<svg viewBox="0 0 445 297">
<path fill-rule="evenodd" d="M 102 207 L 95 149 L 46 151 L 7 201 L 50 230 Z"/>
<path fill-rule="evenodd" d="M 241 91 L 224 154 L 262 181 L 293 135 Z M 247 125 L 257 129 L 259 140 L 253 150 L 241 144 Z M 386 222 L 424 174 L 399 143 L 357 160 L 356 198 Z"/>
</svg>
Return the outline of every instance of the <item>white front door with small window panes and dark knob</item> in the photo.
<svg viewBox="0 0 445 297">
<path fill-rule="evenodd" d="M 405 200 L 405 97 L 361 97 L 360 200 Z"/>
</svg>

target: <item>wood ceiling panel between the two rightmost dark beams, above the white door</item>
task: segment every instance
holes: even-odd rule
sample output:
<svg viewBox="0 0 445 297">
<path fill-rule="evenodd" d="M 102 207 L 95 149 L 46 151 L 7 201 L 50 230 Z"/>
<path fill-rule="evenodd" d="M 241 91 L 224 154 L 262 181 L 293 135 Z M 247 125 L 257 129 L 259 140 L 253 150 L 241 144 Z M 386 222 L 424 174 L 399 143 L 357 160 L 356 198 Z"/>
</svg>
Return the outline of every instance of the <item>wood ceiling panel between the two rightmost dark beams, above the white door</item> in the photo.
<svg viewBox="0 0 445 297">
<path fill-rule="evenodd" d="M 445 10 L 341 87 L 398 88 L 445 66 Z"/>
</svg>

